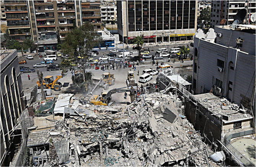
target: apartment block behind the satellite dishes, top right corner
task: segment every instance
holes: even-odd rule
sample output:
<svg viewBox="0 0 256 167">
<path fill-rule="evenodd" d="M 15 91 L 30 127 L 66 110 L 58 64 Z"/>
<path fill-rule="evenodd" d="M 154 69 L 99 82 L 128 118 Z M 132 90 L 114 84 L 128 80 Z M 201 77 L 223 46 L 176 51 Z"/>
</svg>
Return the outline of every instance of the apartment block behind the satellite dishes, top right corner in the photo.
<svg viewBox="0 0 256 167">
<path fill-rule="evenodd" d="M 241 9 L 247 10 L 246 19 L 249 14 L 255 13 L 255 0 L 214 0 L 211 3 L 211 27 L 219 26 L 222 19 L 226 19 L 226 24 L 232 24 L 235 14 Z"/>
</svg>

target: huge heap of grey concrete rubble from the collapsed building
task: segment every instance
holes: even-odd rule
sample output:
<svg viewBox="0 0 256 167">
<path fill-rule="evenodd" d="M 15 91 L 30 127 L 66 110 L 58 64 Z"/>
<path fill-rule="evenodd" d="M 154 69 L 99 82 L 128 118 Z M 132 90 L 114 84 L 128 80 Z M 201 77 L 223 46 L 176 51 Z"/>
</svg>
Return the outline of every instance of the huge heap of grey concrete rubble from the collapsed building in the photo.
<svg viewBox="0 0 256 167">
<path fill-rule="evenodd" d="M 58 98 L 62 103 L 57 102 L 59 105 L 55 103 L 55 108 L 58 108 L 55 111 L 58 111 L 58 114 L 54 117 L 64 115 L 65 117 L 53 120 L 55 126 L 48 127 L 51 129 L 45 132 L 47 139 L 43 143 L 51 145 L 49 138 L 53 139 L 53 145 L 60 141 L 58 138 L 62 138 L 61 141 L 68 141 L 68 148 L 61 149 L 60 143 L 56 143 L 58 147 L 54 148 L 56 149 L 54 152 L 57 153 L 54 156 L 58 159 L 65 159 L 63 156 L 69 155 L 66 157 L 69 161 L 62 164 L 68 166 L 221 165 L 208 159 L 214 152 L 202 142 L 200 133 L 194 130 L 193 125 L 184 116 L 181 119 L 182 101 L 176 99 L 172 93 L 144 94 L 139 96 L 135 103 L 117 104 L 112 107 L 95 106 L 88 102 L 83 105 L 81 100 L 78 103 L 79 98 L 72 97 L 72 94 L 61 96 L 70 98 L 70 103 L 66 100 L 63 103 L 63 98 Z M 82 99 L 89 100 L 90 96 L 85 95 Z M 70 108 L 66 108 L 67 105 Z M 60 110 L 60 107 L 64 106 L 66 112 Z M 173 114 L 172 123 L 163 116 L 166 108 L 169 108 Z M 71 112 L 71 109 L 74 112 Z M 28 142 L 32 139 L 29 138 Z M 38 147 L 42 145 L 40 142 L 36 144 Z M 31 146 L 38 155 L 35 144 Z M 41 151 L 44 149 L 45 147 L 41 148 Z M 42 152 L 45 151 L 46 161 L 45 159 L 39 161 L 40 156 L 38 156 L 37 165 L 57 164 L 58 161 L 48 162 L 49 151 L 46 148 Z"/>
</svg>

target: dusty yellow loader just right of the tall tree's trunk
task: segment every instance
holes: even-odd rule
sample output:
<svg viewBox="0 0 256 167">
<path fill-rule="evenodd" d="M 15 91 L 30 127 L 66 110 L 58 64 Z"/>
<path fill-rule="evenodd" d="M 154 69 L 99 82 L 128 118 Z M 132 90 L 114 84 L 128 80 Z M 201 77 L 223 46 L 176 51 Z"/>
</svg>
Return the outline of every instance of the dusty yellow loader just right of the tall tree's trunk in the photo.
<svg viewBox="0 0 256 167">
<path fill-rule="evenodd" d="M 110 74 L 109 72 L 105 72 L 102 74 L 101 79 L 92 79 L 92 83 L 96 86 L 93 88 L 92 92 L 99 86 L 104 87 L 104 90 L 109 89 L 109 85 L 115 85 L 115 77 L 114 74 Z M 91 92 L 91 94 L 92 94 Z"/>
</svg>

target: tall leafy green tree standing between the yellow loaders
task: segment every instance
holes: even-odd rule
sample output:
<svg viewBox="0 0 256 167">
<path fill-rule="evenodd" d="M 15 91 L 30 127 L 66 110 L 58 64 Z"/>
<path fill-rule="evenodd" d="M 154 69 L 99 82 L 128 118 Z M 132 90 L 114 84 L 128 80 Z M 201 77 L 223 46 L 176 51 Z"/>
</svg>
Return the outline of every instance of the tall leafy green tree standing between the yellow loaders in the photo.
<svg viewBox="0 0 256 167">
<path fill-rule="evenodd" d="M 67 69 L 72 69 L 70 62 L 75 62 L 81 64 L 79 69 L 83 72 L 83 81 L 86 82 L 86 62 L 88 54 L 91 53 L 92 49 L 96 46 L 99 47 L 102 37 L 97 34 L 93 29 L 93 25 L 86 22 L 83 26 L 75 27 L 71 30 L 65 37 L 62 44 L 62 52 L 64 54 L 70 55 L 67 60 L 62 61 L 63 71 Z M 78 58 L 80 56 L 80 58 Z M 83 83 L 84 83 L 83 82 Z M 86 85 L 84 84 L 86 88 Z"/>
</svg>

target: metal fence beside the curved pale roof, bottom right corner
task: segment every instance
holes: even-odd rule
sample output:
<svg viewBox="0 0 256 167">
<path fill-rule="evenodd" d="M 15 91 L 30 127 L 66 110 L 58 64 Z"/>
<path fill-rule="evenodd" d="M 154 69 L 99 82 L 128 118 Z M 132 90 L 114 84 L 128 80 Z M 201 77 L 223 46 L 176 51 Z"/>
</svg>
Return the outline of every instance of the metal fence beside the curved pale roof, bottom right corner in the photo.
<svg viewBox="0 0 256 167">
<path fill-rule="evenodd" d="M 241 154 L 234 146 L 232 146 L 232 144 L 230 144 L 230 142 L 226 138 L 224 138 L 223 136 L 221 136 L 220 138 L 221 138 L 222 144 L 226 147 L 225 149 L 228 149 L 228 151 L 230 151 L 233 154 L 232 155 L 227 151 L 232 157 L 232 159 L 234 159 L 236 162 L 240 164 L 242 163 L 241 165 L 255 167 L 255 163 L 253 163 L 248 158 L 243 156 L 243 154 Z"/>
</svg>

